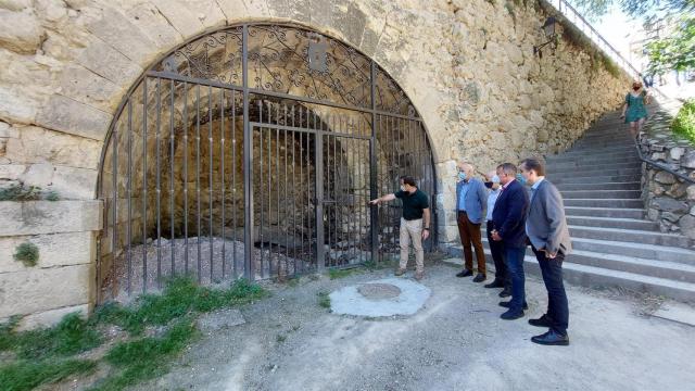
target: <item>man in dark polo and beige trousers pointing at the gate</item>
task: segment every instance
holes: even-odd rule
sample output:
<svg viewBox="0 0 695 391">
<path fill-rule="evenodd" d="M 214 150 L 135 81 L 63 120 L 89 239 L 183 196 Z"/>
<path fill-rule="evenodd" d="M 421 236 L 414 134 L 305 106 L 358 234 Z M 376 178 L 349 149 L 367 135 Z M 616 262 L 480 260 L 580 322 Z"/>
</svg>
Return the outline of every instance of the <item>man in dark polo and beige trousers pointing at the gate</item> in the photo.
<svg viewBox="0 0 695 391">
<path fill-rule="evenodd" d="M 415 249 L 415 279 L 421 280 L 425 273 L 425 251 L 422 240 L 430 236 L 430 202 L 429 197 L 417 188 L 412 176 L 401 177 L 401 191 L 371 200 L 372 205 L 380 202 L 401 199 L 403 202 L 403 217 L 401 217 L 401 263 L 396 276 L 405 273 L 408 265 L 410 240 Z M 425 224 L 422 224 L 425 220 Z"/>
</svg>

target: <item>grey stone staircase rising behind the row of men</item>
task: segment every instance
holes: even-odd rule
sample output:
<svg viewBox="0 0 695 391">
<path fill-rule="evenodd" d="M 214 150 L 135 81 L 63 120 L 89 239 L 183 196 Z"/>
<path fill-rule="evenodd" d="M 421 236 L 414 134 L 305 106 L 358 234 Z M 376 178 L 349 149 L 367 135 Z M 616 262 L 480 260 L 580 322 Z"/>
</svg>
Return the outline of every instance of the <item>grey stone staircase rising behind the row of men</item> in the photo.
<svg viewBox="0 0 695 391">
<path fill-rule="evenodd" d="M 574 248 L 565 279 L 695 302 L 695 251 L 687 238 L 644 219 L 641 161 L 619 115 L 604 115 L 571 149 L 547 156 L 547 178 L 565 199 Z M 448 252 L 463 256 L 460 244 Z M 530 249 L 525 267 L 540 274 Z"/>
</svg>

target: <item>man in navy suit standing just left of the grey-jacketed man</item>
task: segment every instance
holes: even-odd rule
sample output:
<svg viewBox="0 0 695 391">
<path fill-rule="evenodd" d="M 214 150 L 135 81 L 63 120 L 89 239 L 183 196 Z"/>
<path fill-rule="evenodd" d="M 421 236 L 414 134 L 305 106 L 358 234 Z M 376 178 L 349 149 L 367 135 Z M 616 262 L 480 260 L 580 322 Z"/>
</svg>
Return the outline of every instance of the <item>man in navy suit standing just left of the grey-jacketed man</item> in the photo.
<svg viewBox="0 0 695 391">
<path fill-rule="evenodd" d="M 507 273 L 511 280 L 511 300 L 501 302 L 507 312 L 501 318 L 514 320 L 523 317 L 528 308 L 526 303 L 523 256 L 526 253 L 526 216 L 529 209 L 529 194 L 518 180 L 517 167 L 511 163 L 504 163 L 497 167 L 497 176 L 502 185 L 502 192 L 492 212 L 494 229 L 492 240 L 502 241 L 505 248 Z"/>
</svg>

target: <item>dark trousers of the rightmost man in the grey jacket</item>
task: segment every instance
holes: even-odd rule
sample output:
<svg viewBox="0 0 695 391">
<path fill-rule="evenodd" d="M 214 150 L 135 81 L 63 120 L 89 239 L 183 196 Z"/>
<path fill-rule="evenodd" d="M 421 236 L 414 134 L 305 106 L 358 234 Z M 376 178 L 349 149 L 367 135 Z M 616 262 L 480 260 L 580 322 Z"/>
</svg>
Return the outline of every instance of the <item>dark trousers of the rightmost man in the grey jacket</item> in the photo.
<svg viewBox="0 0 695 391">
<path fill-rule="evenodd" d="M 545 252 L 532 248 L 535 258 L 541 266 L 543 282 L 547 290 L 547 312 L 546 317 L 551 320 L 551 328 L 560 336 L 567 335 L 569 325 L 569 305 L 565 285 L 563 283 L 563 261 L 565 254 L 558 252 L 555 258 L 545 256 Z"/>
</svg>

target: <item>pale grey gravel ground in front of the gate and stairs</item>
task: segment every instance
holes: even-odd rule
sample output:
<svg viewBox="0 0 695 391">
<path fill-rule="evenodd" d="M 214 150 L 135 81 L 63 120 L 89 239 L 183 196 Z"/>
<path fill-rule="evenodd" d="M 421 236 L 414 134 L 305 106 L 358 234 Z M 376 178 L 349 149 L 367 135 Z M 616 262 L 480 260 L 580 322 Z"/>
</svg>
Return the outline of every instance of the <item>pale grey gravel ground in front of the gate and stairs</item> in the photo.
<svg viewBox="0 0 695 391">
<path fill-rule="evenodd" d="M 644 302 L 568 287 L 570 346 L 540 346 L 527 324 L 545 290 L 528 278 L 530 311 L 498 318 L 496 289 L 428 265 L 432 294 L 410 317 L 330 314 L 318 292 L 391 276 L 303 277 L 269 286 L 270 299 L 242 308 L 247 323 L 206 335 L 172 373 L 139 390 L 687 390 L 694 329 L 640 315 Z"/>
</svg>

